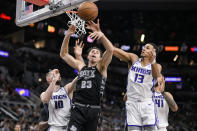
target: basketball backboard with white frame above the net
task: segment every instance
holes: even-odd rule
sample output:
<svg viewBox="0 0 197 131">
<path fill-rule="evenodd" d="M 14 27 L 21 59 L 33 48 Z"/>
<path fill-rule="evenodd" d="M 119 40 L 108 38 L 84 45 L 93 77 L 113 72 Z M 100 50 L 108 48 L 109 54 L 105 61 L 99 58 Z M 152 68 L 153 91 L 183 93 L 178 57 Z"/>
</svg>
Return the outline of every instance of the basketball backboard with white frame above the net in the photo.
<svg viewBox="0 0 197 131">
<path fill-rule="evenodd" d="M 26 2 L 33 1 L 33 2 Z M 41 6 L 32 4 L 41 2 Z M 43 2 L 44 1 L 44 2 Z M 47 1 L 47 2 L 46 2 Z M 16 25 L 23 27 L 77 8 L 82 2 L 97 0 L 17 0 Z"/>
</svg>

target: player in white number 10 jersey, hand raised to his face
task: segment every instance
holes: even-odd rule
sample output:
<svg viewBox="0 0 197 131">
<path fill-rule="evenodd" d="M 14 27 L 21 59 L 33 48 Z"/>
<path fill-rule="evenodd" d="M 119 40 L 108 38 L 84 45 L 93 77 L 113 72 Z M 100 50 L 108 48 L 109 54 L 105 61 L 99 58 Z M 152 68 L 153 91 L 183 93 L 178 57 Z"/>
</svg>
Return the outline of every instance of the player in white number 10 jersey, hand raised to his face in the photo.
<svg viewBox="0 0 197 131">
<path fill-rule="evenodd" d="M 70 118 L 71 98 L 77 78 L 64 87 L 60 87 L 60 73 L 58 69 L 54 69 L 47 73 L 46 80 L 49 83 L 49 87 L 40 95 L 40 98 L 43 103 L 48 103 L 49 130 L 67 131 Z"/>
</svg>

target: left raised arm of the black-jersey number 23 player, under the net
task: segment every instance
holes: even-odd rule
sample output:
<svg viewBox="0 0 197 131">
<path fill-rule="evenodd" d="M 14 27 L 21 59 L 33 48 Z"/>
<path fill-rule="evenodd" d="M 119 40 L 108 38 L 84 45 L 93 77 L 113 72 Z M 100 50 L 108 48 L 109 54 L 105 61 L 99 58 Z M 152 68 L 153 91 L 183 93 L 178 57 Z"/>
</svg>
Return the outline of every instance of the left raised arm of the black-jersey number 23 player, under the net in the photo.
<svg viewBox="0 0 197 131">
<path fill-rule="evenodd" d="M 84 64 L 81 61 L 76 60 L 73 56 L 71 56 L 69 54 L 70 36 L 74 33 L 75 33 L 75 26 L 71 25 L 66 33 L 66 36 L 64 37 L 63 42 L 62 42 L 60 56 L 68 65 L 70 65 L 71 67 L 80 71 L 81 68 L 84 66 Z"/>
</svg>

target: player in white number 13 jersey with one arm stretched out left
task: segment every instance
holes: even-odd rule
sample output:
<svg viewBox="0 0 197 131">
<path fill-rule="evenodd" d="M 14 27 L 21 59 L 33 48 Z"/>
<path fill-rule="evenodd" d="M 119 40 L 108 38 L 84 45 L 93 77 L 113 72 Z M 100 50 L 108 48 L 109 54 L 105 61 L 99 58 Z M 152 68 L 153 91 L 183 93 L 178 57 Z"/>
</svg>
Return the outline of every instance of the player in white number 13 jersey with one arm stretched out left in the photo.
<svg viewBox="0 0 197 131">
<path fill-rule="evenodd" d="M 128 63 L 126 115 L 128 130 L 156 129 L 153 96 L 154 79 L 161 84 L 161 65 L 156 63 L 156 46 L 148 43 L 141 52 L 127 53 L 114 47 L 114 55 Z"/>
</svg>

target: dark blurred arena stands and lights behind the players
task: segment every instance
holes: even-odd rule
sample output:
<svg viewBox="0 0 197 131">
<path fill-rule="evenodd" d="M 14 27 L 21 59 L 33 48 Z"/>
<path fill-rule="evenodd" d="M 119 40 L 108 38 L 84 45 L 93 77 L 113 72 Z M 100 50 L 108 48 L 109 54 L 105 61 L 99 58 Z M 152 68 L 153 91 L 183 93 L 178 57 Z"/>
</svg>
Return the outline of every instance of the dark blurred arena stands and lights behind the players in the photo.
<svg viewBox="0 0 197 131">
<path fill-rule="evenodd" d="M 97 5 L 101 29 L 116 47 L 139 55 L 146 42 L 158 45 L 157 61 L 163 66 L 164 76 L 169 77 L 166 90 L 173 94 L 179 106 L 177 113 L 169 115 L 168 129 L 196 131 L 197 2 L 101 0 Z M 68 29 L 66 14 L 21 28 L 15 25 L 15 10 L 16 1 L 0 1 L 0 129 L 13 130 L 18 124 L 27 131 L 33 130 L 39 121 L 39 94 L 47 88 L 45 73 L 58 68 L 65 84 L 76 72 L 59 57 L 64 32 Z M 88 42 L 87 36 L 83 39 L 84 57 L 89 47 L 100 46 Z M 72 54 L 75 40 L 73 36 Z M 123 130 L 126 79 L 127 64 L 113 57 L 99 130 Z"/>
</svg>

